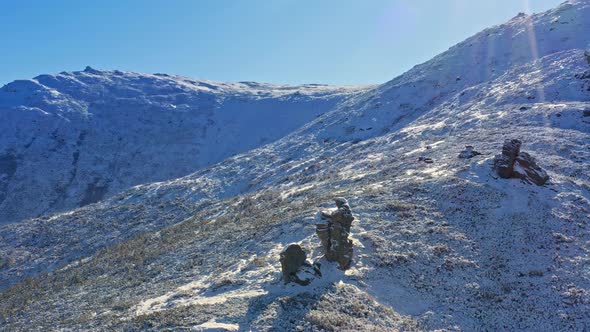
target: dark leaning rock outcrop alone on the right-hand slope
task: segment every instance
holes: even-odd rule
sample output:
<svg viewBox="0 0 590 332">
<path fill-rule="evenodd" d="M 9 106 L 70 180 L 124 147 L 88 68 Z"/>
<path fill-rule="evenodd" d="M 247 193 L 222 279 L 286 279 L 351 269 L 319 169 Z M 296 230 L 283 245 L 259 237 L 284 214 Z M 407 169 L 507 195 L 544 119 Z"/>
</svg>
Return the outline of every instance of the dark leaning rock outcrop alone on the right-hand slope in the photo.
<svg viewBox="0 0 590 332">
<path fill-rule="evenodd" d="M 504 179 L 516 178 L 527 183 L 542 186 L 549 180 L 549 175 L 541 169 L 530 154 L 521 152 L 522 142 L 517 139 L 506 140 L 502 154 L 494 158 L 494 169 Z"/>
</svg>

